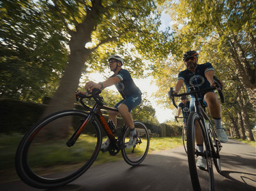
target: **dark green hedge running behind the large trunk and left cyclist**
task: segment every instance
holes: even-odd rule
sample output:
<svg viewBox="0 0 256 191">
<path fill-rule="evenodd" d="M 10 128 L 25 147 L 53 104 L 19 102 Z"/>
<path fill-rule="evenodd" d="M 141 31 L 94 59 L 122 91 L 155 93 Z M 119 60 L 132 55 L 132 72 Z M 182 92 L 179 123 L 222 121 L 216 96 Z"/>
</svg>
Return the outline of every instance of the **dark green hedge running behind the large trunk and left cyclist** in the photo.
<svg viewBox="0 0 256 191">
<path fill-rule="evenodd" d="M 27 132 L 34 123 L 36 123 L 44 109 L 46 104 L 36 104 L 33 102 L 21 102 L 19 100 L 11 99 L 0 99 L 0 132 L 10 134 L 12 132 Z M 83 106 L 75 104 L 77 109 L 84 110 Z M 108 119 L 107 111 L 102 112 L 105 119 Z M 117 127 L 124 125 L 124 119 L 122 117 L 117 117 Z M 160 126 L 155 126 L 150 123 L 145 123 L 145 126 L 152 133 L 161 134 L 162 128 Z M 161 124 L 162 126 L 162 124 Z M 176 126 L 168 126 L 165 124 L 165 136 L 180 136 L 182 130 Z"/>
</svg>

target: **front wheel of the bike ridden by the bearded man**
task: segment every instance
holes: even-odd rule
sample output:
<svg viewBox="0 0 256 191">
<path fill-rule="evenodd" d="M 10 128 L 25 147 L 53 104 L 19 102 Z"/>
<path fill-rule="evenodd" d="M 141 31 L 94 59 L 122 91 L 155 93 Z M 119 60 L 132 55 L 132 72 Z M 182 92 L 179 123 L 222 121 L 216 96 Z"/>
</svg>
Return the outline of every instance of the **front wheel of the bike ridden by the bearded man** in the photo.
<svg viewBox="0 0 256 191">
<path fill-rule="evenodd" d="M 208 138 L 204 138 L 203 141 L 203 153 L 199 153 L 196 149 L 195 141 L 195 128 L 196 121 L 199 123 L 199 127 L 205 137 L 205 132 L 203 129 L 203 123 L 197 113 L 194 111 L 188 116 L 187 123 L 187 149 L 188 149 L 188 166 L 190 172 L 190 179 L 192 182 L 193 190 L 214 190 L 214 174 L 212 168 L 212 157 L 210 151 L 210 145 L 208 143 Z M 197 167 L 196 161 L 197 156 L 203 155 L 206 160 L 205 168 Z"/>
</svg>

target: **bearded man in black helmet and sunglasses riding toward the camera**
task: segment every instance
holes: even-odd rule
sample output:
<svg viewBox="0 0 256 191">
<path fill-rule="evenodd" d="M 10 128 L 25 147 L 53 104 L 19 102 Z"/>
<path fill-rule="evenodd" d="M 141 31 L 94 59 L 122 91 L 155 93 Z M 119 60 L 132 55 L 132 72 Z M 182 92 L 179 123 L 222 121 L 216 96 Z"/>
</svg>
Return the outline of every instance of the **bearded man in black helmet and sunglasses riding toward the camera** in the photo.
<svg viewBox="0 0 256 191">
<path fill-rule="evenodd" d="M 215 72 L 214 68 L 212 68 L 212 64 L 197 64 L 198 56 L 199 55 L 195 50 L 190 50 L 183 55 L 186 70 L 183 70 L 178 74 L 177 83 L 173 93 L 178 93 L 183 84 L 186 85 L 188 91 L 188 87 L 192 85 L 196 89 L 207 89 L 211 86 L 215 86 L 213 79 Z M 221 126 L 221 104 L 218 102 L 216 94 L 213 91 L 201 93 L 201 95 L 199 95 L 199 100 L 208 106 L 209 113 L 214 119 L 218 141 L 227 142 L 227 134 Z M 190 95 L 190 111 L 195 111 L 194 102 L 195 98 L 193 98 L 193 95 Z M 201 135 L 199 128 L 196 130 L 196 141 L 197 149 L 203 151 L 203 136 Z M 205 158 L 199 156 L 199 158 L 197 158 L 197 166 L 205 168 Z"/>
</svg>

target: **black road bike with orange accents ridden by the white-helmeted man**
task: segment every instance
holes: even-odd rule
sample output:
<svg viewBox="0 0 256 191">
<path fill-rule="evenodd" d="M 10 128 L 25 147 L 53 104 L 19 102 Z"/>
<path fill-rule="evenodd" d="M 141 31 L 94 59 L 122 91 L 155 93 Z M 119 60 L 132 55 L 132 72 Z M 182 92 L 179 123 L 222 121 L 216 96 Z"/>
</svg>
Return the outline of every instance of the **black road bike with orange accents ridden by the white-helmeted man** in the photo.
<svg viewBox="0 0 256 191">
<path fill-rule="evenodd" d="M 150 136 L 146 126 L 134 121 L 139 132 L 134 147 L 126 147 L 130 130 L 126 124 L 121 128 L 108 123 L 102 109 L 117 111 L 104 106 L 100 90 L 76 96 L 85 108 L 84 98 L 93 98 L 95 104 L 89 112 L 66 110 L 53 113 L 35 123 L 25 134 L 16 151 L 16 172 L 21 180 L 35 188 L 55 188 L 77 179 L 94 163 L 102 145 L 102 132 L 111 140 L 111 156 L 122 151 L 124 160 L 137 166 L 147 156 Z M 106 138 L 106 137 L 105 137 Z"/>
</svg>

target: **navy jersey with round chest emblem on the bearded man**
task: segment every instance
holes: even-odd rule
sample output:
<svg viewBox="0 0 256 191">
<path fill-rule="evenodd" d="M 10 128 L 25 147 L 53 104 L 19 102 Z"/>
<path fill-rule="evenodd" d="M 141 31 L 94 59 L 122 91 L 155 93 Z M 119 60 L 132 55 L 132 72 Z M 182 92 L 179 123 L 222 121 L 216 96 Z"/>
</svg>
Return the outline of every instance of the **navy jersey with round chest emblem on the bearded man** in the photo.
<svg viewBox="0 0 256 191">
<path fill-rule="evenodd" d="M 182 79 L 186 85 L 186 89 L 189 91 L 188 87 L 194 86 L 196 90 L 201 89 L 208 89 L 210 88 L 210 83 L 205 77 L 205 72 L 210 70 L 214 71 L 212 68 L 212 64 L 207 62 L 203 64 L 197 65 L 195 73 L 191 72 L 190 70 L 186 69 L 180 72 L 177 76 L 177 80 Z M 204 93 L 201 93 L 199 97 L 203 98 Z M 190 95 L 192 98 L 195 97 L 194 95 Z"/>
</svg>

